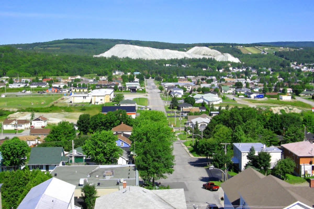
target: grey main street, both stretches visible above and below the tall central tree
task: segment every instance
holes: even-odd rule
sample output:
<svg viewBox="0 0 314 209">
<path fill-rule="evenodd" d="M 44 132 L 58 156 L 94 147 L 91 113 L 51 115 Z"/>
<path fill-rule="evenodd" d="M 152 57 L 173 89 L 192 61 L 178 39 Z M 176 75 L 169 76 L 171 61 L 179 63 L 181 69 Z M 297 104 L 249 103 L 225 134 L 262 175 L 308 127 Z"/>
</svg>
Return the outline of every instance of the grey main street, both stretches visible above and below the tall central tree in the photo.
<svg viewBox="0 0 314 209">
<path fill-rule="evenodd" d="M 164 102 L 160 98 L 159 89 L 156 88 L 153 79 L 147 79 L 147 92 L 149 107 L 153 110 L 165 112 Z M 223 190 L 209 191 L 202 188 L 202 185 L 209 180 L 218 180 L 221 174 L 208 169 L 205 158 L 192 158 L 183 148 L 181 141 L 173 144 L 173 154 L 175 155 L 174 172 L 167 175 L 168 178 L 160 179 L 162 185 L 169 185 L 172 189 L 183 188 L 187 201 L 187 208 L 193 208 L 193 204 L 199 209 L 206 208 L 207 203 L 221 205 L 220 197 L 224 196 Z M 211 176 L 211 178 L 209 177 Z"/>
</svg>

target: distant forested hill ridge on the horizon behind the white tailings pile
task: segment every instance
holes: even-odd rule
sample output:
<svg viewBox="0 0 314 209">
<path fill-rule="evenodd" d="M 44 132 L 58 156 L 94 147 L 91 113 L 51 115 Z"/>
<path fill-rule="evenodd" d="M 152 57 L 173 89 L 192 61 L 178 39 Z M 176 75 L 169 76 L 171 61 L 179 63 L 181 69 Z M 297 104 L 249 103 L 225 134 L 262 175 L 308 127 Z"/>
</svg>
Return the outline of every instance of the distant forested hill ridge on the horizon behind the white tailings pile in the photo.
<svg viewBox="0 0 314 209">
<path fill-rule="evenodd" d="M 53 54 L 75 54 L 75 55 L 98 55 L 111 49 L 116 44 L 132 44 L 138 46 L 147 46 L 156 49 L 170 49 L 187 51 L 194 46 L 230 46 L 242 45 L 246 47 L 265 45 L 265 46 L 313 46 L 314 42 L 269 42 L 259 44 L 235 44 L 235 43 L 195 43 L 195 44 L 173 44 L 158 41 L 139 41 L 125 39 L 62 39 L 48 42 L 38 42 L 32 44 L 10 44 L 14 48 L 22 50 L 35 50 L 37 52 L 48 52 Z"/>
</svg>

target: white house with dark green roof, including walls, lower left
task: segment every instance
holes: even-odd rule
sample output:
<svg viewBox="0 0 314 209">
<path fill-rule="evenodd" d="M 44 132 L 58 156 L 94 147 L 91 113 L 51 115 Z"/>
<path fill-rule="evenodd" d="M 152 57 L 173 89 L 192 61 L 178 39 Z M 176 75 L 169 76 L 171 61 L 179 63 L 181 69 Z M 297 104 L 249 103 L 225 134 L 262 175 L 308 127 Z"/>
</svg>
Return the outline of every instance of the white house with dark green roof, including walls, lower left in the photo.
<svg viewBox="0 0 314 209">
<path fill-rule="evenodd" d="M 63 147 L 33 147 L 27 165 L 30 170 L 51 171 L 57 165 L 65 165 L 68 161 L 69 157 L 65 156 Z"/>
</svg>

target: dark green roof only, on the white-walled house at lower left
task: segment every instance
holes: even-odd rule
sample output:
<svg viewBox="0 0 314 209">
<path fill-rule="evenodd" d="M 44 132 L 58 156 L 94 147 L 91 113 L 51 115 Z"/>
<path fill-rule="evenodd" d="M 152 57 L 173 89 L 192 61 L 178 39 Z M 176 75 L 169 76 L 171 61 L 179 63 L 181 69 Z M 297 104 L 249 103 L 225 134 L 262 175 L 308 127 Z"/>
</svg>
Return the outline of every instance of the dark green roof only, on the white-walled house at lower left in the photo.
<svg viewBox="0 0 314 209">
<path fill-rule="evenodd" d="M 59 165 L 61 161 L 68 161 L 62 147 L 33 147 L 28 165 Z"/>
</svg>

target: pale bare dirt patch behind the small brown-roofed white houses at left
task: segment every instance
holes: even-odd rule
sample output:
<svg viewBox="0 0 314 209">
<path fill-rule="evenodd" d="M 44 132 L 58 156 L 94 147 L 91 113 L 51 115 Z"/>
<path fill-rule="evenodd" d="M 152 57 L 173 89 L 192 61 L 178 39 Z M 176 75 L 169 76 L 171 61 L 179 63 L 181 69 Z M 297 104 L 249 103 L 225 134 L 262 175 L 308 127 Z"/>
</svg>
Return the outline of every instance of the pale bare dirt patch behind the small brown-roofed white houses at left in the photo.
<svg viewBox="0 0 314 209">
<path fill-rule="evenodd" d="M 40 113 L 36 112 L 35 117 L 40 115 L 48 118 L 48 124 L 57 124 L 61 121 L 68 121 L 70 123 L 76 123 L 78 117 L 80 116 L 80 112 L 52 112 L 52 113 Z M 30 119 L 30 112 L 15 112 L 10 114 L 8 118 L 12 119 Z"/>
</svg>

